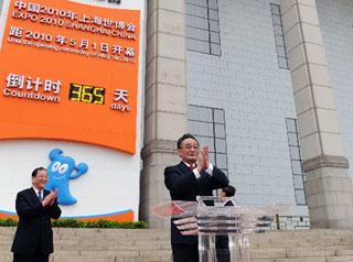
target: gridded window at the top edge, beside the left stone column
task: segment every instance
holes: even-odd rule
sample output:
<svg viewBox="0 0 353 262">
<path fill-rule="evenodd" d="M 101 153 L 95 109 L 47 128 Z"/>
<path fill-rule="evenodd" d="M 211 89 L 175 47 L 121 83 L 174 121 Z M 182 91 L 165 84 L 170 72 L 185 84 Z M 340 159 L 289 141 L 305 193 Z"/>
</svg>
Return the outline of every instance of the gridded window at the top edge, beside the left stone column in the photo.
<svg viewBox="0 0 353 262">
<path fill-rule="evenodd" d="M 217 0 L 186 0 L 186 50 L 221 55 Z"/>
</svg>

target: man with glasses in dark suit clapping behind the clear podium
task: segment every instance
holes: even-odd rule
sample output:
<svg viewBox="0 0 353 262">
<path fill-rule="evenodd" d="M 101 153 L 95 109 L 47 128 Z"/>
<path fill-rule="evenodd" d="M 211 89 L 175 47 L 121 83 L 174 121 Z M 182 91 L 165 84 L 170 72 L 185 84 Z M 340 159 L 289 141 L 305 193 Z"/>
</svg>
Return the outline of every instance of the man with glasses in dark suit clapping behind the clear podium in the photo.
<svg viewBox="0 0 353 262">
<path fill-rule="evenodd" d="M 199 149 L 197 140 L 184 134 L 178 140 L 181 162 L 164 170 L 164 184 L 172 200 L 195 201 L 196 196 L 212 196 L 212 190 L 228 184 L 226 175 L 208 160 L 208 148 Z M 197 236 L 182 236 L 171 222 L 174 262 L 199 261 Z"/>
</svg>

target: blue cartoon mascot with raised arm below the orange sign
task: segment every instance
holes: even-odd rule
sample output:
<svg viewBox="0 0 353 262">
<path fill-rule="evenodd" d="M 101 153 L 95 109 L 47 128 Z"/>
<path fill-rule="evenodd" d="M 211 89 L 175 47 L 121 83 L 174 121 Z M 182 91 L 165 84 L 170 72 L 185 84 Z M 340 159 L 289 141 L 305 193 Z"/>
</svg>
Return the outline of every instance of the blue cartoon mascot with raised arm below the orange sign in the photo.
<svg viewBox="0 0 353 262">
<path fill-rule="evenodd" d="M 63 151 L 54 149 L 49 154 L 52 163 L 47 167 L 49 183 L 47 190 L 58 189 L 57 203 L 60 205 L 74 205 L 77 199 L 69 194 L 68 181 L 75 179 L 88 171 L 86 163 L 75 165 L 75 161 L 69 156 L 62 155 Z"/>
</svg>

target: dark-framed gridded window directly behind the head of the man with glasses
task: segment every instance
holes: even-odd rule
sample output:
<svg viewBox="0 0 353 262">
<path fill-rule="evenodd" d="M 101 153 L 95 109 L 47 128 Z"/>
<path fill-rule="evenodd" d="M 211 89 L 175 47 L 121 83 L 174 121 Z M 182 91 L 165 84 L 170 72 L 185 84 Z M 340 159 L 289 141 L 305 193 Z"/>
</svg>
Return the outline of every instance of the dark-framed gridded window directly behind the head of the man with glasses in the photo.
<svg viewBox="0 0 353 262">
<path fill-rule="evenodd" d="M 208 145 L 211 163 L 228 175 L 224 109 L 189 106 L 188 124 L 200 145 Z"/>
</svg>

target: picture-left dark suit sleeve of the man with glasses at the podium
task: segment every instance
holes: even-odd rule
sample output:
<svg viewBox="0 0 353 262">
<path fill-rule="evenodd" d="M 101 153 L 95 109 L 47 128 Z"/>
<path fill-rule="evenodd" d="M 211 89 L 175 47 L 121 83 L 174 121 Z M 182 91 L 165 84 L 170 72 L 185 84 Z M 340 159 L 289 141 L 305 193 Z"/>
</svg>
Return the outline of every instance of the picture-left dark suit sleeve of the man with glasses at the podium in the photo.
<svg viewBox="0 0 353 262">
<path fill-rule="evenodd" d="M 176 194 L 189 192 L 197 179 L 192 171 L 182 174 L 175 166 L 169 166 L 164 170 L 164 184 L 167 188 Z"/>
</svg>

